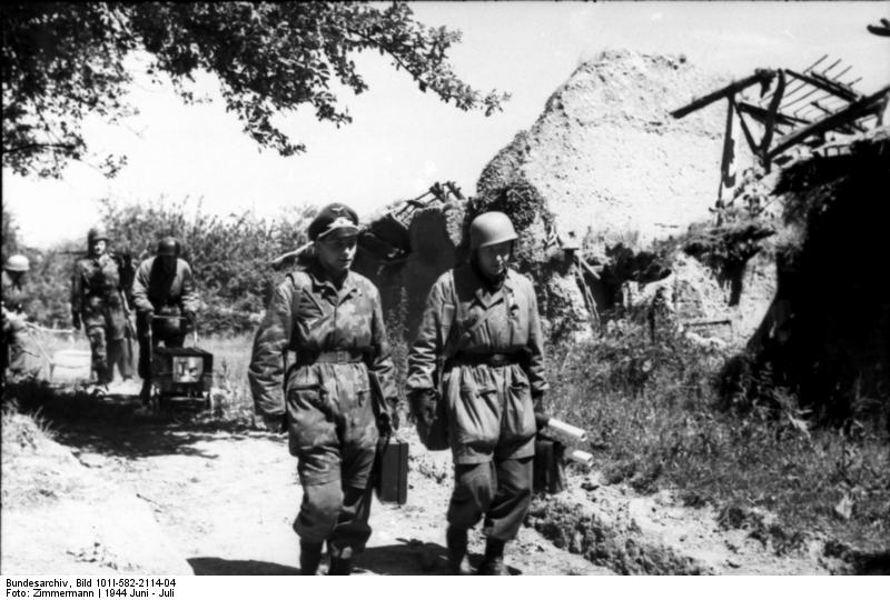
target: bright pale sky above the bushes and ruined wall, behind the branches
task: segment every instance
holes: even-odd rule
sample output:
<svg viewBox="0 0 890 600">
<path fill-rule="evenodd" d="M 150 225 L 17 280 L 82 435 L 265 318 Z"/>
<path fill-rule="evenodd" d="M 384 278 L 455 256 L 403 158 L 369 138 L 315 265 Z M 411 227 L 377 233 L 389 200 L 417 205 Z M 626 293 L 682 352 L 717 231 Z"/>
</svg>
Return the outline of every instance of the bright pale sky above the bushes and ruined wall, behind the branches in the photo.
<svg viewBox="0 0 890 600">
<path fill-rule="evenodd" d="M 475 193 L 482 169 L 585 60 L 605 49 L 685 54 L 694 66 L 742 78 L 758 67 L 803 69 L 824 53 L 861 76 L 857 88 L 890 83 L 890 40 L 866 26 L 890 17 L 888 2 L 423 2 L 412 8 L 429 26 L 463 32 L 451 52 L 455 72 L 482 91 L 507 91 L 503 112 L 463 112 L 422 93 L 379 54 L 356 63 L 369 90 L 340 96 L 353 123 L 337 129 L 310 111 L 278 124 L 307 152 L 283 158 L 260 151 L 225 111 L 212 76 L 198 78 L 205 102 L 186 106 L 171 87 L 152 84 L 131 61 L 130 102 L 139 114 L 117 126 L 90 118 L 85 138 L 99 156 L 126 154 L 115 179 L 71 163 L 61 180 L 3 170 L 2 198 L 24 243 L 49 247 L 86 237 L 98 221 L 97 199 L 148 202 L 188 199 L 210 213 L 346 202 L 367 217 L 414 198 L 436 181 Z M 710 90 L 690 90 L 690 98 Z"/>
</svg>

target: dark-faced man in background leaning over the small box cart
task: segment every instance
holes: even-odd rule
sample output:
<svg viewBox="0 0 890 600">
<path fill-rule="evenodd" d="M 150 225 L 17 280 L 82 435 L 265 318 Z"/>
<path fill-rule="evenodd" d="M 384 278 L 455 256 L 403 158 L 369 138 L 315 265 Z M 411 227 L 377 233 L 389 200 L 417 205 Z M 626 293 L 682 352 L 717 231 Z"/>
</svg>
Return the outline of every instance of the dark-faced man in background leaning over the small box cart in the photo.
<svg viewBox="0 0 890 600">
<path fill-rule="evenodd" d="M 182 348 L 186 333 L 195 327 L 198 292 L 191 266 L 179 254 L 179 241 L 164 238 L 158 242 L 157 256 L 139 264 L 132 282 L 144 402 L 148 402 L 151 393 L 152 348 L 161 342 L 167 348 Z M 156 316 L 170 318 L 156 320 Z"/>
</svg>

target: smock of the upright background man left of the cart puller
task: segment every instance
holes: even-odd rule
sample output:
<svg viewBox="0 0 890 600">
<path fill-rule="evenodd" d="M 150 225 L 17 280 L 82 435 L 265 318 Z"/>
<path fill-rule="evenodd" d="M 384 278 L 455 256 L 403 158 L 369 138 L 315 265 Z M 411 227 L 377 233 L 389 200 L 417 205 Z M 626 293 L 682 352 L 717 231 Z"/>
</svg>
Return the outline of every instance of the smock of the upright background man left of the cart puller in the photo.
<svg viewBox="0 0 890 600">
<path fill-rule="evenodd" d="M 71 317 L 83 329 L 101 327 L 108 338 L 123 338 L 126 316 L 121 300 L 118 264 L 108 254 L 88 257 L 75 263 L 71 276 Z"/>
</svg>

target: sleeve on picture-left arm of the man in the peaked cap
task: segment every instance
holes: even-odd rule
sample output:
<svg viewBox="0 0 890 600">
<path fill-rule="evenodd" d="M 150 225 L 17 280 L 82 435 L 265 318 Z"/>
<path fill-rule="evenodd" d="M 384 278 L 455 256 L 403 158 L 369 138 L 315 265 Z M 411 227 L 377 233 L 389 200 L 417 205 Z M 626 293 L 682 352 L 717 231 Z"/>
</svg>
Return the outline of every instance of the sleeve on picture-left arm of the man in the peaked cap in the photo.
<svg viewBox="0 0 890 600">
<path fill-rule="evenodd" d="M 285 413 L 284 351 L 293 330 L 293 294 L 294 283 L 288 278 L 275 289 L 254 337 L 247 379 L 250 382 L 255 410 L 267 417 Z"/>
</svg>

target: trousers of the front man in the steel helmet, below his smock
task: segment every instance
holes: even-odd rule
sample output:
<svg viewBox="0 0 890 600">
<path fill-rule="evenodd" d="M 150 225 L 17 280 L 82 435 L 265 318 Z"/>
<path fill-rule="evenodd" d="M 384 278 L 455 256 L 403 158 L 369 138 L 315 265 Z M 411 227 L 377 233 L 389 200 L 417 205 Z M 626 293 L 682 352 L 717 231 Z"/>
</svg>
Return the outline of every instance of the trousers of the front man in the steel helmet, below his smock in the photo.
<svg viewBox="0 0 890 600">
<path fill-rule="evenodd" d="M 486 537 L 515 539 L 532 502 L 533 464 L 534 457 L 455 464 L 448 523 L 469 529 L 484 517 Z"/>
</svg>

